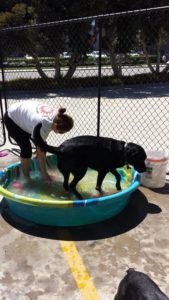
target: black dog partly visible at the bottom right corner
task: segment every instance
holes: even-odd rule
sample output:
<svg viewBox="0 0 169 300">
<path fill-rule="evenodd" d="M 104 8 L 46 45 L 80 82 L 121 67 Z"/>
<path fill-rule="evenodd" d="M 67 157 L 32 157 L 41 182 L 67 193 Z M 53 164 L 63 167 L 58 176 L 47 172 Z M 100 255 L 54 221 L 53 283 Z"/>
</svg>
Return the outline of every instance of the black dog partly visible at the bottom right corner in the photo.
<svg viewBox="0 0 169 300">
<path fill-rule="evenodd" d="M 169 300 L 146 274 L 128 269 L 114 300 Z"/>
</svg>

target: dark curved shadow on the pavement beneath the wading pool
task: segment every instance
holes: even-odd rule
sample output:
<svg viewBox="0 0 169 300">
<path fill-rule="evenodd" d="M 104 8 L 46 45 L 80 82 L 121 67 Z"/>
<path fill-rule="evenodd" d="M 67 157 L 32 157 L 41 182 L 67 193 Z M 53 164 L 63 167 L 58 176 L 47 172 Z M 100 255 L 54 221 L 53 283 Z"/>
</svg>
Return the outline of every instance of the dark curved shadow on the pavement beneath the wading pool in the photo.
<svg viewBox="0 0 169 300">
<path fill-rule="evenodd" d="M 1 202 L 1 214 L 8 224 L 26 234 L 56 240 L 83 241 L 117 236 L 135 228 L 144 220 L 147 214 L 160 212 L 159 206 L 148 203 L 144 194 L 137 190 L 131 196 L 128 206 L 111 219 L 97 224 L 78 227 L 52 227 L 25 221 L 9 211 L 4 199 Z"/>
</svg>

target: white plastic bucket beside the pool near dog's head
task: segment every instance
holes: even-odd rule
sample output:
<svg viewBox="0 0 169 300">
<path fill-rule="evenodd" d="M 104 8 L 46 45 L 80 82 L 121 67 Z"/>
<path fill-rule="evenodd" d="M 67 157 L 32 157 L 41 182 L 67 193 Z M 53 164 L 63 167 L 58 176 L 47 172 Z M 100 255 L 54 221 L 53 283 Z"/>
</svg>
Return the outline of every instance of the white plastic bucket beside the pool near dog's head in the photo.
<svg viewBox="0 0 169 300">
<path fill-rule="evenodd" d="M 165 186 L 168 156 L 163 151 L 147 151 L 146 172 L 141 174 L 141 184 L 150 188 Z"/>
</svg>

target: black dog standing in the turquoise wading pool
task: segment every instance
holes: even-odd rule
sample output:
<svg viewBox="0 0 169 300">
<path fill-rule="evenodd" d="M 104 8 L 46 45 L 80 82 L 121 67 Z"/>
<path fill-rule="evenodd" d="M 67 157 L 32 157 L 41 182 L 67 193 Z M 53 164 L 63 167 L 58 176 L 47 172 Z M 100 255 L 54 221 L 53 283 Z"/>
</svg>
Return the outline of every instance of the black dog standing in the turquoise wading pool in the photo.
<svg viewBox="0 0 169 300">
<path fill-rule="evenodd" d="M 58 169 L 64 176 L 63 186 L 79 199 L 82 196 L 77 192 L 76 185 L 84 177 L 88 167 L 98 171 L 96 189 L 100 192 L 108 172 L 116 177 L 116 188 L 121 190 L 121 177 L 116 168 L 130 164 L 138 172 L 146 171 L 146 153 L 139 145 L 106 137 L 79 136 L 63 142 L 59 147 L 53 147 L 42 140 L 40 128 L 41 124 L 38 124 L 34 129 L 34 143 L 42 150 L 57 155 Z M 68 184 L 70 173 L 74 175 L 74 179 Z"/>
</svg>

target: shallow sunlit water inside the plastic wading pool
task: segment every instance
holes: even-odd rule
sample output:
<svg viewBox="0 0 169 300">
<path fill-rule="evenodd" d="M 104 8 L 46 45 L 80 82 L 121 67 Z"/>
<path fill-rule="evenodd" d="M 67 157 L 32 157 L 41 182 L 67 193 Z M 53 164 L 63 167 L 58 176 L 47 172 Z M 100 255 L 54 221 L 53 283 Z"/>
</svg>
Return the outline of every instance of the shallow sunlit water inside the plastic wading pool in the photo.
<svg viewBox="0 0 169 300">
<path fill-rule="evenodd" d="M 131 169 L 123 168 L 118 169 L 122 176 L 121 187 L 122 190 L 130 186 L 132 171 Z M 13 180 L 7 189 L 18 195 L 27 196 L 30 198 L 38 198 L 45 200 L 73 200 L 76 199 L 70 192 L 66 192 L 63 188 L 63 176 L 57 169 L 50 169 L 48 173 L 52 177 L 52 182 L 45 182 L 38 170 L 31 172 L 31 180 L 25 180 L 21 175 L 17 180 Z M 73 179 L 70 176 L 69 182 Z M 97 180 L 97 172 L 89 169 L 85 177 L 78 183 L 77 190 L 82 194 L 84 199 L 96 198 L 106 195 L 117 193 L 115 187 L 115 177 L 108 173 L 104 179 L 102 189 L 103 193 L 100 194 L 95 190 Z"/>
</svg>

